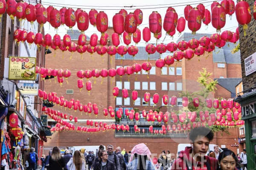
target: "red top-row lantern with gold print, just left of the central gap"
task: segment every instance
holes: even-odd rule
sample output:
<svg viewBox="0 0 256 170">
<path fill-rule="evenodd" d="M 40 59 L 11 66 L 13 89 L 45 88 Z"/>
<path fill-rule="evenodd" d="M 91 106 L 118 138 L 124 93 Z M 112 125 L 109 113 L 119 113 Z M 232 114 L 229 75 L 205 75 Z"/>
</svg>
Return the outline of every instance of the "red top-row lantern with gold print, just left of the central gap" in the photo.
<svg viewBox="0 0 256 170">
<path fill-rule="evenodd" d="M 96 28 L 101 34 L 108 30 L 108 15 L 104 11 L 99 11 L 96 16 Z"/>
</svg>

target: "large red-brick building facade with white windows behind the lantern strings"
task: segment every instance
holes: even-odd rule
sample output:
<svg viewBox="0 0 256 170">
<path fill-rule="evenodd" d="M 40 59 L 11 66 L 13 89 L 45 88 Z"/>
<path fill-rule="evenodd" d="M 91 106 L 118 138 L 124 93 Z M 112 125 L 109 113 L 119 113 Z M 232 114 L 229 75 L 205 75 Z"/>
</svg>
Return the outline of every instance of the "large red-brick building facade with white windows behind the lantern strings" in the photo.
<svg viewBox="0 0 256 170">
<path fill-rule="evenodd" d="M 73 39 L 73 42 L 77 42 L 79 32 L 76 30 L 73 30 L 74 34 L 69 32 L 71 39 Z M 111 45 L 111 34 L 113 33 L 113 28 L 108 29 L 108 35 L 109 35 L 109 42 L 106 46 Z M 191 34 L 189 34 L 191 35 Z M 184 36 L 184 35 L 183 35 Z M 186 33 L 185 33 L 186 36 Z M 202 35 L 203 36 L 203 35 Z M 77 37 L 77 38 L 76 38 Z M 183 39 L 184 37 L 181 37 Z M 199 39 L 199 38 L 198 38 Z M 88 44 L 87 40 L 87 44 Z M 99 44 L 98 44 L 99 45 Z M 172 67 L 172 70 L 168 68 L 164 68 L 161 70 L 160 68 L 155 67 L 155 60 L 158 59 L 160 56 L 158 53 L 151 54 L 149 62 L 151 62 L 152 68 L 151 71 L 149 71 L 147 78 L 145 72 L 140 71 L 140 74 L 137 75 L 131 75 L 128 81 L 128 76 L 124 75 L 122 77 L 122 83 L 121 78 L 117 75 L 115 79 L 112 79 L 111 84 L 111 78 L 108 77 L 108 79 L 104 79 L 103 83 L 100 84 L 102 81 L 102 78 L 99 77 L 96 79 L 96 84 L 92 84 L 92 90 L 90 91 L 90 96 L 88 96 L 88 92 L 85 88 L 85 86 L 82 88 L 81 93 L 79 88 L 77 87 L 77 80 L 79 79 L 76 77 L 76 72 L 79 70 L 92 70 L 92 69 L 110 69 L 110 68 L 118 68 L 119 66 L 128 66 L 133 65 L 134 63 L 140 63 L 142 64 L 148 59 L 147 53 L 144 51 L 145 47 L 139 47 L 139 54 L 132 59 L 132 56 L 125 55 L 123 59 L 121 60 L 120 56 L 116 55 L 116 57 L 112 57 L 112 63 L 110 62 L 110 56 L 108 54 L 103 55 L 104 62 L 102 62 L 101 57 L 98 54 L 93 54 L 93 59 L 91 59 L 91 56 L 89 53 L 85 52 L 83 54 L 83 59 L 81 59 L 80 54 L 75 52 L 72 56 L 72 59 L 70 58 L 70 52 L 64 52 L 64 59 L 62 59 L 62 52 L 59 50 L 53 51 L 53 49 L 50 49 L 52 51 L 52 54 L 46 55 L 46 68 L 57 68 L 57 69 L 68 69 L 71 71 L 72 75 L 70 78 L 68 78 L 68 82 L 63 82 L 62 87 L 57 83 L 54 82 L 52 79 L 52 82 L 49 82 L 49 80 L 46 80 L 45 82 L 45 91 L 51 92 L 54 91 L 57 93 L 58 96 L 64 96 L 65 99 L 79 99 L 80 103 L 87 104 L 88 102 L 96 103 L 99 108 L 99 115 L 97 116 L 97 119 L 93 113 L 89 116 L 85 113 L 80 113 L 79 111 L 74 112 L 73 110 L 64 110 L 64 108 L 60 109 L 59 106 L 54 106 L 53 109 L 59 110 L 63 113 L 72 114 L 73 117 L 78 117 L 79 122 L 76 124 L 79 126 L 86 126 L 86 120 L 93 120 L 98 122 L 107 122 L 108 125 L 112 124 L 115 120 L 111 119 L 111 117 L 108 115 L 108 119 L 105 118 L 105 116 L 102 113 L 103 108 L 108 108 L 108 106 L 112 106 L 113 108 L 138 108 L 140 111 L 146 110 L 149 111 L 150 109 L 155 109 L 157 107 L 160 107 L 161 111 L 166 111 L 166 106 L 161 105 L 162 96 L 163 94 L 167 94 L 169 97 L 172 97 L 173 95 L 176 95 L 178 97 L 178 93 L 180 93 L 181 90 L 192 88 L 191 85 L 196 82 L 199 74 L 198 71 L 202 71 L 202 68 L 207 68 L 208 72 L 214 73 L 212 75 L 212 79 L 219 78 L 220 76 L 223 76 L 223 78 L 228 78 L 229 71 L 228 67 L 231 67 L 230 63 L 227 63 L 224 56 L 224 50 L 221 51 L 221 54 L 223 54 L 222 58 L 219 57 L 221 64 L 224 63 L 225 68 L 218 67 L 218 61 L 215 61 L 212 53 L 209 54 L 209 57 L 201 56 L 200 62 L 198 62 L 198 58 L 195 56 L 194 59 L 191 59 L 190 61 L 182 60 L 181 62 L 178 62 L 175 68 L 175 64 Z M 232 47 L 230 48 L 232 49 Z M 216 52 L 218 49 L 216 49 Z M 162 55 L 162 58 L 164 58 L 166 54 Z M 55 57 L 53 57 L 55 55 Z M 208 55 L 208 54 L 207 54 Z M 215 54 L 213 54 L 215 55 Z M 218 55 L 218 54 L 216 54 Z M 218 58 L 217 58 L 218 59 Z M 239 63 L 233 64 L 233 68 L 236 71 L 237 77 L 239 77 L 239 68 L 241 69 L 241 65 Z M 240 67 L 239 67 L 240 65 Z M 222 74 L 225 73 L 225 74 Z M 241 77 L 241 76 L 240 76 Z M 86 79 L 83 79 L 84 83 L 87 81 Z M 93 77 L 90 78 L 90 81 L 93 83 L 94 79 Z M 187 81 L 187 83 L 185 83 Z M 174 83 L 174 84 L 172 84 Z M 117 96 L 116 100 L 114 100 L 113 96 L 113 87 L 119 86 L 119 96 Z M 122 96 L 122 88 L 128 89 L 129 99 L 122 99 L 119 98 Z M 219 96 L 225 96 L 225 98 L 231 98 L 231 92 L 228 91 L 226 88 L 217 85 L 218 90 L 220 93 L 213 94 L 212 97 L 219 97 Z M 131 99 L 131 92 L 133 90 L 138 91 L 138 97 L 140 97 L 140 100 L 138 99 L 135 102 L 135 105 L 133 104 L 133 100 Z M 73 94 L 66 94 L 66 90 L 73 90 Z M 195 89 L 198 90 L 198 89 Z M 160 96 L 159 102 L 157 104 L 157 107 L 152 105 L 152 102 L 149 102 L 149 104 L 146 106 L 145 103 L 143 103 L 143 97 L 145 92 L 149 92 L 151 94 L 151 97 L 158 93 Z M 180 97 L 178 97 L 180 98 Z M 180 100 L 180 99 L 179 99 Z M 118 103 L 116 103 L 118 102 Z M 181 102 L 181 101 L 180 101 Z M 162 106 L 162 107 L 161 107 Z M 175 107 L 174 107 L 175 108 Z M 174 109 L 172 108 L 172 109 Z M 171 109 L 171 106 L 168 106 L 168 111 Z M 55 125 L 53 120 L 49 119 L 49 122 L 52 121 L 52 125 Z M 72 121 L 73 122 L 73 121 Z M 151 124 L 148 124 L 148 122 L 131 122 L 128 121 L 126 118 L 122 118 L 121 122 L 119 124 L 128 124 L 133 127 L 134 124 L 140 125 L 141 127 L 148 127 Z M 154 123 L 154 127 L 160 127 L 159 124 Z M 163 122 L 161 122 L 160 125 L 163 125 Z M 167 127 L 167 125 L 166 125 Z M 224 132 L 218 132 L 215 133 L 215 137 L 212 141 L 212 144 L 218 144 L 220 147 L 221 145 L 225 145 L 224 147 L 229 148 L 233 150 L 235 153 L 237 153 L 237 148 L 231 147 L 231 144 L 235 143 L 234 136 L 238 136 L 237 128 L 230 128 L 228 129 L 231 135 L 227 135 Z M 142 132 L 141 132 L 142 133 Z M 180 143 L 189 143 L 189 140 L 186 138 L 186 134 L 173 134 L 173 135 L 153 135 L 144 134 L 132 134 L 132 135 L 125 135 L 120 134 L 118 131 L 114 130 L 108 130 L 105 132 L 99 132 L 99 133 L 82 133 L 82 132 L 70 132 L 70 131 L 61 131 L 58 133 L 53 133 L 52 139 L 49 139 L 48 142 L 45 144 L 46 146 L 86 146 L 86 145 L 99 145 L 104 144 L 107 146 L 108 144 L 112 144 L 114 147 L 120 146 L 121 148 L 125 148 L 127 151 L 131 150 L 136 144 L 139 144 L 141 142 L 144 142 L 147 144 L 149 149 L 151 150 L 151 153 L 154 153 L 155 156 L 160 154 L 162 150 L 170 150 L 171 153 L 177 153 L 177 142 Z M 74 139 L 76 139 L 74 141 Z M 89 139 L 89 140 L 88 140 Z"/>
</svg>

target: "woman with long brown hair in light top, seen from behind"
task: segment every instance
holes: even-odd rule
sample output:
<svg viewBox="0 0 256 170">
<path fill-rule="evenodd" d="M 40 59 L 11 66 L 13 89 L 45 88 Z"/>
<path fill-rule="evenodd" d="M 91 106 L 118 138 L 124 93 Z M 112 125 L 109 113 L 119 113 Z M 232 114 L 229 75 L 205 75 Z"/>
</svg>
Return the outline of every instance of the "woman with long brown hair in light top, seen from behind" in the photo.
<svg viewBox="0 0 256 170">
<path fill-rule="evenodd" d="M 67 170 L 85 170 L 85 161 L 78 150 L 75 151 L 73 158 L 67 162 Z"/>
</svg>

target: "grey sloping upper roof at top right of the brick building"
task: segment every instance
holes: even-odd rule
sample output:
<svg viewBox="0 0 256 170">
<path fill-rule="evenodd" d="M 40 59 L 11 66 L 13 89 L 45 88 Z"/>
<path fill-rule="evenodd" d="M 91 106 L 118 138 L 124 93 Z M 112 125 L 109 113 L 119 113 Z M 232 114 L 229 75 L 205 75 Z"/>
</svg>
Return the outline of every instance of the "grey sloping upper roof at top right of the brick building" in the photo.
<svg viewBox="0 0 256 170">
<path fill-rule="evenodd" d="M 185 40 L 186 42 L 188 42 L 192 38 L 199 40 L 203 36 L 210 37 L 211 35 L 212 34 L 204 34 L 204 33 L 197 33 L 195 35 L 192 35 L 191 33 L 185 32 L 180 36 L 177 42 L 181 40 Z M 238 43 L 239 41 L 236 42 L 236 45 Z M 233 63 L 233 64 L 241 64 L 240 51 L 236 52 L 235 54 L 231 53 L 231 51 L 233 50 L 233 48 L 235 48 L 236 45 L 229 42 L 229 43 L 226 43 L 226 45 L 220 49 L 218 47 L 215 47 L 216 49 L 215 51 L 213 51 L 213 62 L 227 62 L 227 63 Z"/>
</svg>

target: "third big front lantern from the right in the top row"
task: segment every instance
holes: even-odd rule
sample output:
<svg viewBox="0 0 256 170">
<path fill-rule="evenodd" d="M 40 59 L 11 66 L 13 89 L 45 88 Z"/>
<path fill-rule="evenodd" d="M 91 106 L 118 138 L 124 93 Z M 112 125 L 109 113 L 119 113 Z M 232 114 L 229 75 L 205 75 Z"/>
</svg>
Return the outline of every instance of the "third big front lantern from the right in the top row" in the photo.
<svg viewBox="0 0 256 170">
<path fill-rule="evenodd" d="M 188 27 L 195 34 L 201 28 L 202 15 L 198 8 L 193 8 L 189 11 L 188 15 Z"/>
</svg>

